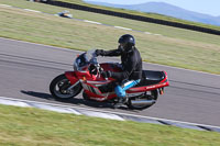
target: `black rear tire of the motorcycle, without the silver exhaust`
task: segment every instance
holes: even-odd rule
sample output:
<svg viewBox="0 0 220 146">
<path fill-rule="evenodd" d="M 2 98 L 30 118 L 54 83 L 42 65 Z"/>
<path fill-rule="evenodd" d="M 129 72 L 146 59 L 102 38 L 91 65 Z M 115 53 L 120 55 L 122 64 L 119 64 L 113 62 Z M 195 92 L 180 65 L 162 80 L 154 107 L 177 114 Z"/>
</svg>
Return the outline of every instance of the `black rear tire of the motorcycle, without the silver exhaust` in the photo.
<svg viewBox="0 0 220 146">
<path fill-rule="evenodd" d="M 132 109 L 132 110 L 144 110 L 144 109 L 152 106 L 156 102 L 157 97 L 158 97 L 157 90 L 147 91 L 146 94 L 143 96 L 143 97 L 130 98 L 127 105 L 129 106 L 129 109 Z M 155 100 L 155 102 L 152 103 L 152 104 L 133 105 L 132 102 L 131 102 L 132 100 L 134 100 L 134 101 L 135 100 L 136 101 L 138 100 Z"/>
</svg>

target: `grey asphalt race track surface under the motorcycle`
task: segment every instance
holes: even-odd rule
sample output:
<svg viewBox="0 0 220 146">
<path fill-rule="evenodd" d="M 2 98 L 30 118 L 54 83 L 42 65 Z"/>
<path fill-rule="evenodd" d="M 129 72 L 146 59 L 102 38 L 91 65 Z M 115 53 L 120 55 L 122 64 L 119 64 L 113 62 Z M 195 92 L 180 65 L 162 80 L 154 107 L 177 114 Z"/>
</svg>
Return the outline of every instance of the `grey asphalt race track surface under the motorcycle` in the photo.
<svg viewBox="0 0 220 146">
<path fill-rule="evenodd" d="M 48 91 L 50 82 L 57 75 L 73 70 L 72 64 L 80 53 L 0 38 L 0 97 L 220 126 L 219 75 L 147 63 L 143 64 L 144 69 L 166 70 L 170 82 L 170 86 L 165 88 L 165 93 L 158 97 L 156 104 L 150 109 L 116 110 L 107 103 L 84 101 L 81 94 L 68 102 L 53 100 Z M 99 61 L 120 61 L 120 59 L 99 57 Z"/>
</svg>

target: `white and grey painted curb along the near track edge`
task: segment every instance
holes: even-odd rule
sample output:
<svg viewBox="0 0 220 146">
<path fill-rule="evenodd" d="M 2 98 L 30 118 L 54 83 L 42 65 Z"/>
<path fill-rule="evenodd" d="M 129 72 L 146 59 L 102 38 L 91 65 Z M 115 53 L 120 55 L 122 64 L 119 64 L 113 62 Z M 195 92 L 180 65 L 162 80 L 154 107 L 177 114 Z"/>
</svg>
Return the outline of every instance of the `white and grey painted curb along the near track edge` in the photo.
<svg viewBox="0 0 220 146">
<path fill-rule="evenodd" d="M 134 121 L 134 122 L 140 122 L 140 123 L 170 125 L 170 126 L 177 126 L 177 127 L 183 127 L 183 128 L 191 128 L 191 130 L 198 130 L 198 131 L 209 131 L 209 132 L 220 133 L 219 126 L 172 121 L 172 120 L 156 119 L 156 117 L 150 117 L 150 116 L 140 116 L 140 115 L 132 115 L 132 114 L 127 114 L 127 113 L 98 111 L 95 109 L 77 108 L 77 106 L 69 106 L 69 105 L 58 105 L 58 104 L 53 104 L 53 103 L 20 100 L 20 99 L 6 98 L 6 97 L 0 97 L 0 104 L 15 105 L 15 106 L 21 106 L 21 108 L 36 108 L 36 109 L 48 110 L 48 111 L 54 111 L 58 113 L 70 113 L 70 114 L 76 114 L 76 115 L 102 117 L 102 119 L 117 120 L 117 121 Z"/>
</svg>

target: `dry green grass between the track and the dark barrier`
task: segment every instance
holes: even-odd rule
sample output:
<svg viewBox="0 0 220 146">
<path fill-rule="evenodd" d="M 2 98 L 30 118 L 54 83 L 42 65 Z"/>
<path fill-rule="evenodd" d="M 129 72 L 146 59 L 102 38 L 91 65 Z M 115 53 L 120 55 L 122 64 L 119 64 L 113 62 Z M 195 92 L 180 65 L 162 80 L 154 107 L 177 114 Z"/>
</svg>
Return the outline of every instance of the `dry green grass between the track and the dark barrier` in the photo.
<svg viewBox="0 0 220 146">
<path fill-rule="evenodd" d="M 66 10 L 24 0 L 0 0 L 0 3 L 54 14 Z M 162 34 L 162 36 L 2 7 L 0 36 L 87 50 L 117 48 L 119 36 L 131 33 L 135 36 L 136 46 L 145 61 L 220 74 L 220 37 L 217 35 L 85 11 L 69 11 L 77 19 Z"/>
</svg>

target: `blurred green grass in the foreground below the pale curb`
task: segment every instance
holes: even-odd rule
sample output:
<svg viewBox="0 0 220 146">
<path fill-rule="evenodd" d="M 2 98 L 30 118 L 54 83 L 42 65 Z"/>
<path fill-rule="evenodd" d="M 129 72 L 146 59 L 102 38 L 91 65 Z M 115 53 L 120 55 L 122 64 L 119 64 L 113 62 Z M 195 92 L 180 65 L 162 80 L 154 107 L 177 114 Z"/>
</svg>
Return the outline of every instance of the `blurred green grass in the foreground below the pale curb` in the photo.
<svg viewBox="0 0 220 146">
<path fill-rule="evenodd" d="M 220 134 L 0 105 L 1 146 L 218 146 Z"/>
</svg>

